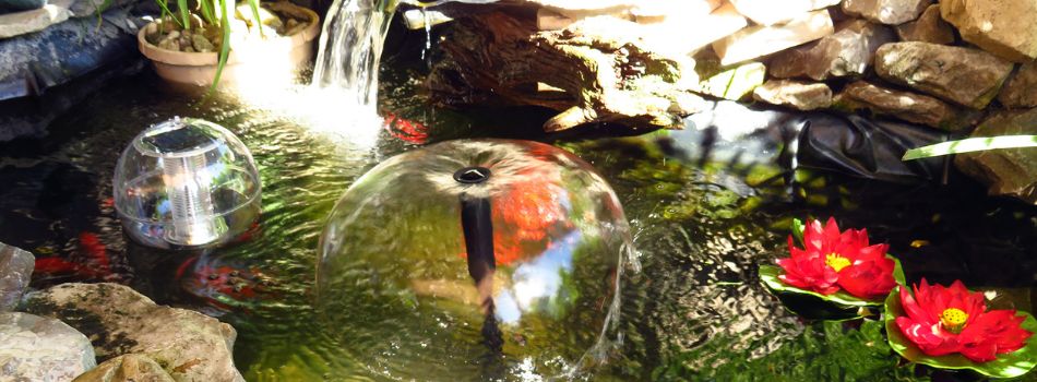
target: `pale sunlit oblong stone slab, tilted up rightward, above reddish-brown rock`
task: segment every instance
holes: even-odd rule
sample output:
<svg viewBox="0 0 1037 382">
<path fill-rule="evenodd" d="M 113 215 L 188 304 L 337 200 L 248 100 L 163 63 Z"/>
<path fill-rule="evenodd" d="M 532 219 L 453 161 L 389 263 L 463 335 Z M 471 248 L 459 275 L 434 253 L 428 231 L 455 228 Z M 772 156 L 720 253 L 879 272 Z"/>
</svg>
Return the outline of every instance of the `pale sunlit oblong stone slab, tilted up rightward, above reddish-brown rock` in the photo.
<svg viewBox="0 0 1037 382">
<path fill-rule="evenodd" d="M 813 11 L 779 25 L 756 25 L 736 32 L 716 43 L 713 50 L 720 63 L 729 65 L 784 50 L 831 35 L 832 17 L 825 10 Z"/>
</svg>

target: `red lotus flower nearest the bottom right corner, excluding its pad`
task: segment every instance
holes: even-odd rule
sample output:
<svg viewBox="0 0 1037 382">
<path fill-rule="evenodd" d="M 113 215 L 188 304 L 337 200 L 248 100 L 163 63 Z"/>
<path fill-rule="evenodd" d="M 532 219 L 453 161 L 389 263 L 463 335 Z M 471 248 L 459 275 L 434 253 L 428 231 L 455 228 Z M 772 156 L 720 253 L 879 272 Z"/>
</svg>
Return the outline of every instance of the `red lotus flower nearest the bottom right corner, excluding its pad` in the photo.
<svg viewBox="0 0 1037 382">
<path fill-rule="evenodd" d="M 1033 333 L 1021 324 L 1024 315 L 1014 310 L 987 311 L 981 293 L 969 293 L 961 280 L 950 288 L 929 286 L 922 278 L 911 297 L 901 287 L 901 305 L 906 317 L 897 317 L 901 332 L 922 353 L 943 356 L 961 353 L 976 362 L 1018 350 Z"/>
</svg>

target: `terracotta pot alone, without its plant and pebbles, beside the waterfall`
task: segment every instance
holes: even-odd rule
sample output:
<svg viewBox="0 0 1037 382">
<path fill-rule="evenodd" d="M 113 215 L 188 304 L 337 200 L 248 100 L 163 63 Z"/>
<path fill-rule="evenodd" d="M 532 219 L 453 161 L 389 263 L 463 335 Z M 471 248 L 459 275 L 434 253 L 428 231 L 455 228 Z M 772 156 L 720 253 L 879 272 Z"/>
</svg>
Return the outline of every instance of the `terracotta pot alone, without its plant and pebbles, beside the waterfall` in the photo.
<svg viewBox="0 0 1037 382">
<path fill-rule="evenodd" d="M 313 39 L 321 31 L 320 16 L 312 10 L 288 2 L 270 4 L 274 11 L 295 15 L 305 14 L 309 25 L 291 36 L 253 38 L 240 43 L 231 38 L 230 55 L 219 83 L 231 84 L 250 77 L 271 75 L 271 71 L 295 71 L 313 59 Z M 152 23 L 154 24 L 154 23 Z M 147 27 L 136 34 L 141 53 L 152 60 L 155 72 L 166 81 L 208 86 L 216 76 L 218 52 L 184 52 L 159 48 L 144 38 Z M 267 32 L 267 34 L 273 33 Z M 282 73 L 276 73 L 282 74 Z"/>
</svg>

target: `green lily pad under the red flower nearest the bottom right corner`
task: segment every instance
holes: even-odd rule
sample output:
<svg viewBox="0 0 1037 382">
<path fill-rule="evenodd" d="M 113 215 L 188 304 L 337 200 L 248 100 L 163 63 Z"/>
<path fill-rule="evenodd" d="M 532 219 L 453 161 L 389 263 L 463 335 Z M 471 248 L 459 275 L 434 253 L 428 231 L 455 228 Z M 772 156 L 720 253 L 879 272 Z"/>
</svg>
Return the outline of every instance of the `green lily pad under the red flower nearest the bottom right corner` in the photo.
<svg viewBox="0 0 1037 382">
<path fill-rule="evenodd" d="M 890 347 L 907 360 L 927 365 L 937 369 L 972 370 L 991 378 L 1016 378 L 1034 369 L 1037 365 L 1037 338 L 1030 337 L 1023 348 L 998 355 L 998 358 L 989 362 L 974 362 L 959 354 L 946 356 L 929 356 L 921 351 L 915 344 L 901 333 L 896 325 L 896 318 L 906 315 L 901 306 L 899 286 L 893 288 L 890 296 L 885 299 L 885 322 L 886 336 L 890 338 Z M 1023 329 L 1037 333 L 1037 320 L 1027 312 L 1018 311 L 1026 317 L 1023 321 Z"/>
</svg>

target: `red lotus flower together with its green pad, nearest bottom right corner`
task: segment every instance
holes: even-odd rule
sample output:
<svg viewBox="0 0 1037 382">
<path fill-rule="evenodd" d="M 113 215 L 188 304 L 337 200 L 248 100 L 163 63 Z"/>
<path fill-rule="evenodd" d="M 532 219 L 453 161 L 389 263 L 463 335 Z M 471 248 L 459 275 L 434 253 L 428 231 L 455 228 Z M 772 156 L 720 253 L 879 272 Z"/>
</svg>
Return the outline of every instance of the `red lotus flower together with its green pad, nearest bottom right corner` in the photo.
<svg viewBox="0 0 1037 382">
<path fill-rule="evenodd" d="M 1037 365 L 1033 315 L 987 310 L 984 294 L 961 280 L 950 287 L 922 278 L 914 296 L 898 286 L 885 301 L 890 346 L 904 358 L 939 369 L 969 369 L 994 378 L 1025 374 Z"/>
</svg>

